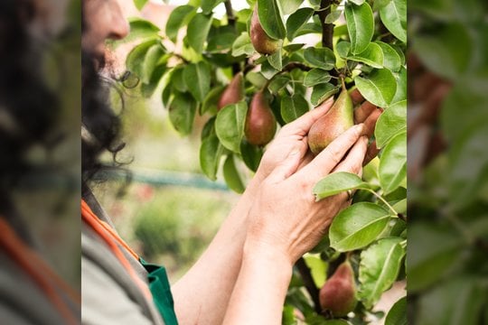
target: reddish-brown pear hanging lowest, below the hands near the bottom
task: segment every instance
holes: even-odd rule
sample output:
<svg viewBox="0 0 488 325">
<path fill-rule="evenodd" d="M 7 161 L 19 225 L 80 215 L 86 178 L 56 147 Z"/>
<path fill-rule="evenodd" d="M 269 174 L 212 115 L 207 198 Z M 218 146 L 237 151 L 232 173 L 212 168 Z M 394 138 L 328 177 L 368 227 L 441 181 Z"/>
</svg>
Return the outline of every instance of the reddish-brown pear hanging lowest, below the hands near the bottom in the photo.
<svg viewBox="0 0 488 325">
<path fill-rule="evenodd" d="M 343 317 L 356 308 L 356 284 L 354 271 L 349 261 L 339 265 L 325 282 L 319 294 L 320 305 L 330 311 L 333 317 Z"/>
</svg>

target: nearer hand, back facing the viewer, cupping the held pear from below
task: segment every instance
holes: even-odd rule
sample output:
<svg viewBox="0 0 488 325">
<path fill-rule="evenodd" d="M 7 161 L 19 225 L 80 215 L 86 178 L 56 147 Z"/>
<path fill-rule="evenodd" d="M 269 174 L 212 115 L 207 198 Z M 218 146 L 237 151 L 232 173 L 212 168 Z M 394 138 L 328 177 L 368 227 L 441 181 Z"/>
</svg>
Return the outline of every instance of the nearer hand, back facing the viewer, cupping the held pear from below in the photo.
<svg viewBox="0 0 488 325">
<path fill-rule="evenodd" d="M 291 266 L 319 242 L 333 217 L 350 202 L 347 193 L 317 202 L 314 185 L 331 172 L 361 175 L 368 149 L 365 131 L 364 124 L 353 126 L 299 171 L 306 155 L 304 146 L 288 153 L 262 182 L 249 210 L 245 254 L 271 250 Z"/>
</svg>

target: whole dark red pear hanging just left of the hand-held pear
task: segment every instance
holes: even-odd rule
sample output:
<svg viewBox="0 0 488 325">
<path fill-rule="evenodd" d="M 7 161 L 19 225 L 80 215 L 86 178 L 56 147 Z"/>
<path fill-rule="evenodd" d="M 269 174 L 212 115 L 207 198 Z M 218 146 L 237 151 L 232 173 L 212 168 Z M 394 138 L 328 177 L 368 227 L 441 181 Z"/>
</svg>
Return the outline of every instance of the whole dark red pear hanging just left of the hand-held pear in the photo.
<svg viewBox="0 0 488 325">
<path fill-rule="evenodd" d="M 249 144 L 263 146 L 268 144 L 277 132 L 277 119 L 263 91 L 259 91 L 252 98 L 248 115 L 246 116 L 246 125 L 244 134 Z"/>
</svg>

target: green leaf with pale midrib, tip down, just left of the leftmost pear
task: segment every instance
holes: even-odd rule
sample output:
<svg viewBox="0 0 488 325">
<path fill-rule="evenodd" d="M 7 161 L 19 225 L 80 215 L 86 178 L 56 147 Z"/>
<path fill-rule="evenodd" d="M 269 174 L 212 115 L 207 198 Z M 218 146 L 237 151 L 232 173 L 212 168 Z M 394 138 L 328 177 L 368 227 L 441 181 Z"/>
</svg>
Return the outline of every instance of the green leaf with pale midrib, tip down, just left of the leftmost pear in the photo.
<svg viewBox="0 0 488 325">
<path fill-rule="evenodd" d="M 202 103 L 210 91 L 211 71 L 209 66 L 203 61 L 191 63 L 184 68 L 183 79 L 193 98 Z"/>
</svg>

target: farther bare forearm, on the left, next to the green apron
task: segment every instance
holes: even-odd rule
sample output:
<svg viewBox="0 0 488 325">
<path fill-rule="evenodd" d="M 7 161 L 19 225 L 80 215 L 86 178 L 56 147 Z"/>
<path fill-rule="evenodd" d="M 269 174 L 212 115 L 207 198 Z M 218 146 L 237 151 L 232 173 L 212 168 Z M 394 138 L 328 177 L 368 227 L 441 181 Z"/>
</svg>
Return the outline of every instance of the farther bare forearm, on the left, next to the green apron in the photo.
<svg viewBox="0 0 488 325">
<path fill-rule="evenodd" d="M 174 284 L 180 324 L 220 324 L 239 275 L 249 207 L 258 181 L 252 181 L 200 259 Z"/>
</svg>

